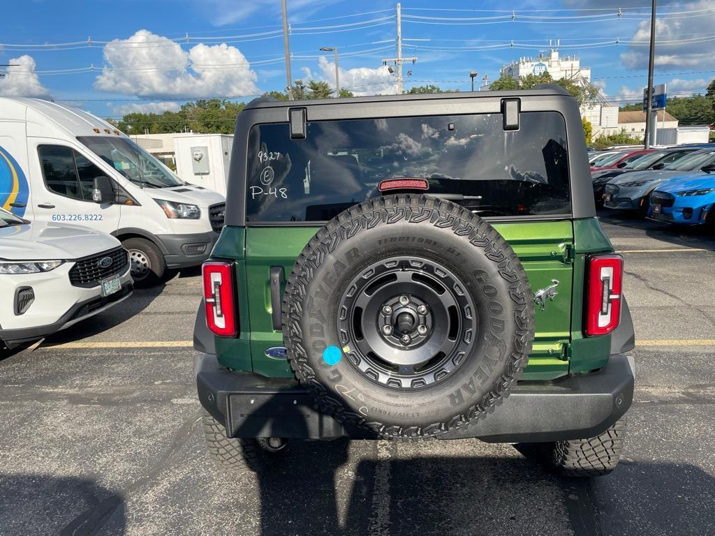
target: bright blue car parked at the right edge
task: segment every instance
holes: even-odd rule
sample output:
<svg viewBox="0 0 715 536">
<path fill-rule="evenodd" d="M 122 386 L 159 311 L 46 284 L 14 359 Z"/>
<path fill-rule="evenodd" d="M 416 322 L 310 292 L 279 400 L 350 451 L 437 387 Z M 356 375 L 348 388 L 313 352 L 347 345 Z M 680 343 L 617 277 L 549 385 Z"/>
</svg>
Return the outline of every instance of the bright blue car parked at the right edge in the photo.
<svg viewBox="0 0 715 536">
<path fill-rule="evenodd" d="M 687 175 L 660 184 L 651 193 L 648 217 L 681 225 L 715 224 L 715 176 Z"/>
</svg>

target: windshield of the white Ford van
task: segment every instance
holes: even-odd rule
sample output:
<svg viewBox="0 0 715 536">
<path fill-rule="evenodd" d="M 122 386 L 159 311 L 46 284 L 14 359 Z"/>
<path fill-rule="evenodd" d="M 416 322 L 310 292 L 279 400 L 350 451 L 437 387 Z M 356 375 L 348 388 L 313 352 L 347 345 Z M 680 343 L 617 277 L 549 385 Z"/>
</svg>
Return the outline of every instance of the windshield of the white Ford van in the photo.
<svg viewBox="0 0 715 536">
<path fill-rule="evenodd" d="M 134 184 L 147 188 L 172 188 L 184 183 L 148 152 L 127 138 L 109 136 L 79 136 L 77 140 L 89 147 Z"/>
</svg>

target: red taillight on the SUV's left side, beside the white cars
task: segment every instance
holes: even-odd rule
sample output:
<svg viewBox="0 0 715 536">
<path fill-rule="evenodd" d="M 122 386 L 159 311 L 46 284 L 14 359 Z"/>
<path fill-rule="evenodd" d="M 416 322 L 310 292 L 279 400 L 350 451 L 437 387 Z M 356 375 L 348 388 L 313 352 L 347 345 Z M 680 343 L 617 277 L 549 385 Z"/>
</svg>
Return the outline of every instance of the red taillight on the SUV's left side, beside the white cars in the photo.
<svg viewBox="0 0 715 536">
<path fill-rule="evenodd" d="M 202 267 L 206 325 L 221 337 L 237 335 L 233 264 L 209 261 Z"/>
</svg>

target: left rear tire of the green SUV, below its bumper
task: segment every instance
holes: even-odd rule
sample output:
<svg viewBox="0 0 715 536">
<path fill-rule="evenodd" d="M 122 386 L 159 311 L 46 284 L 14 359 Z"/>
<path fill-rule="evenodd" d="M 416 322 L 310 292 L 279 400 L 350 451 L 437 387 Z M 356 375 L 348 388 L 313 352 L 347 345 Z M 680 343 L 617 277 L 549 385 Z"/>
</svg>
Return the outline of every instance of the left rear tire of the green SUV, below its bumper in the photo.
<svg viewBox="0 0 715 536">
<path fill-rule="evenodd" d="M 263 472 L 270 460 L 284 452 L 285 440 L 276 437 L 234 439 L 226 437 L 224 427 L 204 411 L 204 437 L 211 457 L 225 469 L 236 472 Z"/>
</svg>

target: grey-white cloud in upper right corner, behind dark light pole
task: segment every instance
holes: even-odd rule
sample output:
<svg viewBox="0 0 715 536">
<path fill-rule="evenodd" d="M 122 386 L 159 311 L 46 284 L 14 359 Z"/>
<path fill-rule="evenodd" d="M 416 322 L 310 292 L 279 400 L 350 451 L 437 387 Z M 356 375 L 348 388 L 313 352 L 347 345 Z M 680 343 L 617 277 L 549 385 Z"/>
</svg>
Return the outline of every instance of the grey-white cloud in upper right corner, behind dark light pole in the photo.
<svg viewBox="0 0 715 536">
<path fill-rule="evenodd" d="M 697 67 L 707 69 L 715 64 L 711 53 L 711 44 L 700 41 L 699 36 L 712 34 L 715 26 L 715 11 L 712 11 L 712 0 L 699 0 L 679 6 L 681 11 L 705 11 L 698 16 L 656 18 L 656 57 L 657 67 Z M 621 63 L 628 69 L 647 69 L 649 41 L 651 36 L 650 21 L 644 20 L 638 24 L 638 31 L 633 34 L 632 41 L 640 43 L 621 54 Z M 658 44 L 658 41 L 666 41 Z M 694 42 L 684 42 L 694 41 Z"/>
</svg>

